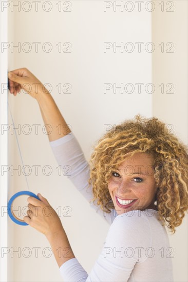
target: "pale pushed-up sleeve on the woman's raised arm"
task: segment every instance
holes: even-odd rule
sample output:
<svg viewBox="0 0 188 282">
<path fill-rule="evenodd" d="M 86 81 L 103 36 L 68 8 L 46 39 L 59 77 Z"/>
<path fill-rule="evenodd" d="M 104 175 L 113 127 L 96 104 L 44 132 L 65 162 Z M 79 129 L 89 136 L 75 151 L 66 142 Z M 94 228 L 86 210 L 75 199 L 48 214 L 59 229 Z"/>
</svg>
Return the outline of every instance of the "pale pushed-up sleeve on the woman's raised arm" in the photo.
<svg viewBox="0 0 188 282">
<path fill-rule="evenodd" d="M 64 175 L 89 202 L 93 197 L 92 186 L 88 184 L 90 168 L 73 132 L 49 143 Z M 111 213 L 103 212 L 96 202 L 90 203 L 90 207 L 95 209 L 96 213 L 100 214 L 108 224 L 111 224 L 116 216 L 115 209 Z"/>
</svg>

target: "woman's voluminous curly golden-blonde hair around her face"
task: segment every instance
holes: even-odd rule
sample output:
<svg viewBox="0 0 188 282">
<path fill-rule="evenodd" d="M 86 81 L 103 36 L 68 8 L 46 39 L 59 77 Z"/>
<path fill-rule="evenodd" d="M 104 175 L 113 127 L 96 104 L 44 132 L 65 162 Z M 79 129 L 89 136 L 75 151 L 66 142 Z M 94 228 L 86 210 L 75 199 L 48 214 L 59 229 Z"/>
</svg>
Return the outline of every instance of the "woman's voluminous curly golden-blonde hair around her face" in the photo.
<svg viewBox="0 0 188 282">
<path fill-rule="evenodd" d="M 107 213 L 115 206 L 112 202 L 108 180 L 111 174 L 125 160 L 136 152 L 146 152 L 154 156 L 154 178 L 157 183 L 155 201 L 158 220 L 166 220 L 173 234 L 175 227 L 182 223 L 188 210 L 187 147 L 169 132 L 168 127 L 158 118 L 127 119 L 103 135 L 96 145 L 89 161 L 90 178 L 97 205 Z"/>
</svg>

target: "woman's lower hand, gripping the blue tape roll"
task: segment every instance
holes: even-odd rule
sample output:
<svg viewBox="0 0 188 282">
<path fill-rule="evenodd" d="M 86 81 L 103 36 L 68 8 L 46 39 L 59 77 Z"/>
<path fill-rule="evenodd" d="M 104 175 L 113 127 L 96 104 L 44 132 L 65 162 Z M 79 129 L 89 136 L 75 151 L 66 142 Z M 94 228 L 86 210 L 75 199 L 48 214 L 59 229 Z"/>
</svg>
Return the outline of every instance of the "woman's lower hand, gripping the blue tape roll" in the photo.
<svg viewBox="0 0 188 282">
<path fill-rule="evenodd" d="M 27 210 L 28 216 L 24 216 L 24 221 L 46 236 L 61 231 L 63 226 L 58 214 L 50 206 L 46 198 L 40 193 L 37 196 L 40 200 L 34 197 L 27 198 L 29 210 Z"/>
</svg>

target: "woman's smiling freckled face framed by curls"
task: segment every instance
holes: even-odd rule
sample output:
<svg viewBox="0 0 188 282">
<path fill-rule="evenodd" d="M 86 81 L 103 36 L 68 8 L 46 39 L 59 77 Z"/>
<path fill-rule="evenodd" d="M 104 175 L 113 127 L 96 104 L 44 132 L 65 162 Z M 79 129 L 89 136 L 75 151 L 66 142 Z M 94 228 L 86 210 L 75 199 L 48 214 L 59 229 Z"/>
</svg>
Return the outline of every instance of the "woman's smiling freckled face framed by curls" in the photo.
<svg viewBox="0 0 188 282">
<path fill-rule="evenodd" d="M 108 190 L 119 215 L 132 210 L 157 210 L 154 205 L 157 186 L 153 163 L 152 155 L 138 152 L 125 159 L 112 173 L 108 180 Z"/>
</svg>

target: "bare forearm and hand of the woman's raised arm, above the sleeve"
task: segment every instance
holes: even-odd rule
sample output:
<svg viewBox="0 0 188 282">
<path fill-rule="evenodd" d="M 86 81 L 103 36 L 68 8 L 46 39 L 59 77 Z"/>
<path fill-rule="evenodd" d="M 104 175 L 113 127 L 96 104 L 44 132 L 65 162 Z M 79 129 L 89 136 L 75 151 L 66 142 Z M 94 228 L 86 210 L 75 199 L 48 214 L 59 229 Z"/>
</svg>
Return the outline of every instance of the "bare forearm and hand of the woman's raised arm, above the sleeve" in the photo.
<svg viewBox="0 0 188 282">
<path fill-rule="evenodd" d="M 8 73 L 10 93 L 14 95 L 24 89 L 39 104 L 45 125 L 52 127 L 48 134 L 50 141 L 59 139 L 71 132 L 50 92 L 27 68 L 16 69 Z M 48 126 L 46 127 L 48 130 Z"/>
</svg>

